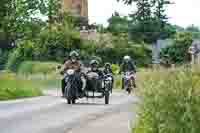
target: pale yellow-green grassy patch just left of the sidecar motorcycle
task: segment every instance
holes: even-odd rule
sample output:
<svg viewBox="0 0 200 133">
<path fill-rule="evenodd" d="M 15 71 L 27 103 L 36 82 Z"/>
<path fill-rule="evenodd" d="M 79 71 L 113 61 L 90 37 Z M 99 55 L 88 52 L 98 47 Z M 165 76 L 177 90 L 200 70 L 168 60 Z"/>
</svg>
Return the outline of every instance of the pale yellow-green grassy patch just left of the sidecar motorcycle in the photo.
<svg viewBox="0 0 200 133">
<path fill-rule="evenodd" d="M 60 88 L 61 75 L 57 62 L 24 61 L 17 71 L 18 77 L 29 79 L 43 89 Z"/>
</svg>

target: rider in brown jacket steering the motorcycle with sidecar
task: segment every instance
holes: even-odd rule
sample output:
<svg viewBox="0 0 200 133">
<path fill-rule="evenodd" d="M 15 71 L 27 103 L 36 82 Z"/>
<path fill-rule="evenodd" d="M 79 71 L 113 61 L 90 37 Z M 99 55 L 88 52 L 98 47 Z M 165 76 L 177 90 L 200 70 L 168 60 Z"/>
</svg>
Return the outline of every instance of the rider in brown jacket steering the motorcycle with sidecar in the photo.
<svg viewBox="0 0 200 133">
<path fill-rule="evenodd" d="M 77 73 L 80 73 L 81 71 L 81 63 L 79 61 L 79 54 L 76 51 L 72 51 L 69 54 L 69 59 L 65 61 L 62 71 L 61 73 L 63 74 L 65 71 L 67 71 L 68 69 L 73 69 L 75 70 Z M 77 75 L 77 78 L 79 76 Z M 79 80 L 80 81 L 80 80 Z M 65 93 L 65 86 L 66 86 L 66 82 L 65 82 L 65 77 L 62 79 L 62 95 L 64 96 Z M 81 90 L 79 90 L 81 91 Z"/>
</svg>

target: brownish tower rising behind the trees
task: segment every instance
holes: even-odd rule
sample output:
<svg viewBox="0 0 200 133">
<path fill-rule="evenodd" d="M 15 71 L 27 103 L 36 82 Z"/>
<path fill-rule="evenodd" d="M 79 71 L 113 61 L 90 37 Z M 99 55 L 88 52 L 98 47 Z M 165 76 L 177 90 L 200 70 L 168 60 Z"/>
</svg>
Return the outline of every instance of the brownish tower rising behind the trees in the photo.
<svg viewBox="0 0 200 133">
<path fill-rule="evenodd" d="M 88 0 L 62 0 L 63 11 L 88 19 Z"/>
</svg>

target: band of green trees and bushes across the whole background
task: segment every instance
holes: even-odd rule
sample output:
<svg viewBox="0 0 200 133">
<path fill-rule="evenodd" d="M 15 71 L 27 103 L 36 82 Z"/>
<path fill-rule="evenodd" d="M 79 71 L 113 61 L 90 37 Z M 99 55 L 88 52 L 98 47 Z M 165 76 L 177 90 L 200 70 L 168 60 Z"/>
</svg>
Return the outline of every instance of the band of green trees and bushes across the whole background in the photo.
<svg viewBox="0 0 200 133">
<path fill-rule="evenodd" d="M 182 31 L 192 33 L 192 37 L 199 36 L 199 29 L 194 25 L 183 29 L 168 22 L 166 6 L 172 4 L 168 0 L 119 1 L 134 2 L 137 11 L 124 17 L 115 12 L 107 28 L 96 26 L 100 34 L 111 34 L 109 40 L 92 41 L 81 38 L 77 28 L 79 18 L 61 12 L 60 0 L 2 0 L 0 38 L 15 40 L 17 47 L 1 49 L 0 68 L 16 70 L 24 60 L 62 62 L 74 49 L 86 63 L 90 58 L 120 63 L 129 54 L 139 66 L 145 66 L 151 63 L 149 46 L 157 39 L 175 39 L 177 32 Z"/>
</svg>

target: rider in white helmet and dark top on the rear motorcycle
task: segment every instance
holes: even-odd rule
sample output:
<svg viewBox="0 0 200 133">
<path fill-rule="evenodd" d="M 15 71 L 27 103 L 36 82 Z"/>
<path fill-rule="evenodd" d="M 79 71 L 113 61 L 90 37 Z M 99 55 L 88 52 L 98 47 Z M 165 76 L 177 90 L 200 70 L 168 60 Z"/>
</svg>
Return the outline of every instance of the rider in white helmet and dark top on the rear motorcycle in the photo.
<svg viewBox="0 0 200 133">
<path fill-rule="evenodd" d="M 120 66 L 120 73 L 127 71 L 136 73 L 135 63 L 128 55 L 124 56 L 123 63 Z M 136 84 L 134 84 L 134 87 L 136 87 Z M 124 89 L 124 78 L 122 78 L 122 89 Z"/>
</svg>

